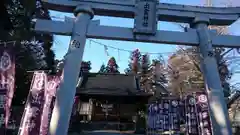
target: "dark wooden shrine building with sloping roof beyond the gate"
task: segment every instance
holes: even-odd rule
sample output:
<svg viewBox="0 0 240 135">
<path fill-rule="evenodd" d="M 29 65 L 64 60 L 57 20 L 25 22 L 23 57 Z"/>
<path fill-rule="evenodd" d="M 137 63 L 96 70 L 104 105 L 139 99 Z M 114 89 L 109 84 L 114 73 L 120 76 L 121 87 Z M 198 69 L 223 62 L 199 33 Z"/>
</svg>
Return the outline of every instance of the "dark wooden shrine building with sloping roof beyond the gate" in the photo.
<svg viewBox="0 0 240 135">
<path fill-rule="evenodd" d="M 141 90 L 134 75 L 87 73 L 82 76 L 76 92 L 80 101 L 71 130 L 144 132 L 146 122 L 140 112 L 146 112 L 154 94 Z M 157 91 L 166 90 L 160 86 Z"/>
</svg>

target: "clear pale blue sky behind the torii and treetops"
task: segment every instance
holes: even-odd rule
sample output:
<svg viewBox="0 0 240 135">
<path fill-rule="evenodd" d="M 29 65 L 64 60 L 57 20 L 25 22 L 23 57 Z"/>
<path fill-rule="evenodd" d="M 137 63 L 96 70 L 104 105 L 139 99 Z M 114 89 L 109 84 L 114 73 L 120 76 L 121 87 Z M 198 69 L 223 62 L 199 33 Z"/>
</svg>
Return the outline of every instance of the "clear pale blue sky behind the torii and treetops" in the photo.
<svg viewBox="0 0 240 135">
<path fill-rule="evenodd" d="M 203 5 L 202 1 L 204 1 L 204 0 L 161 0 L 161 2 L 187 4 L 187 5 Z M 56 11 L 50 11 L 50 14 L 51 14 L 53 20 L 56 20 L 56 19 L 59 20 L 59 18 L 64 18 L 64 16 L 74 17 L 70 13 L 62 13 L 62 12 L 56 12 Z M 132 19 L 95 16 L 93 20 L 97 20 L 97 19 L 100 20 L 101 25 L 133 28 L 133 20 Z M 233 27 L 236 27 L 236 24 L 233 25 Z M 239 34 L 239 32 L 235 31 L 233 27 L 230 28 L 230 32 L 233 34 Z M 169 22 L 159 22 L 158 29 L 171 30 L 171 31 L 181 31 L 182 30 L 178 24 L 169 23 Z M 130 53 L 127 51 L 121 51 L 121 49 L 132 51 L 132 50 L 138 48 L 142 52 L 162 53 L 162 55 L 164 55 L 164 57 L 166 59 L 169 55 L 171 55 L 171 52 L 174 52 L 176 50 L 175 45 L 140 43 L 140 42 L 125 42 L 125 41 L 115 41 L 115 40 L 114 41 L 113 40 L 99 40 L 99 39 L 93 39 L 93 40 L 98 41 L 98 42 L 103 43 L 108 46 L 119 48 L 120 50 L 108 48 L 109 56 L 107 56 L 107 54 L 105 53 L 105 50 L 104 50 L 104 46 L 87 40 L 85 50 L 84 50 L 83 60 L 92 62 L 92 72 L 97 72 L 99 70 L 100 66 L 103 63 L 106 64 L 108 59 L 112 56 L 116 58 L 117 63 L 120 67 L 120 69 L 119 69 L 120 72 L 123 72 L 124 69 L 127 67 Z M 68 48 L 69 41 L 70 41 L 69 36 L 60 36 L 60 35 L 54 36 L 53 50 L 55 51 L 57 59 L 62 59 L 62 57 L 65 55 L 67 48 Z M 150 55 L 150 58 L 154 58 L 157 56 L 158 55 Z"/>
</svg>

